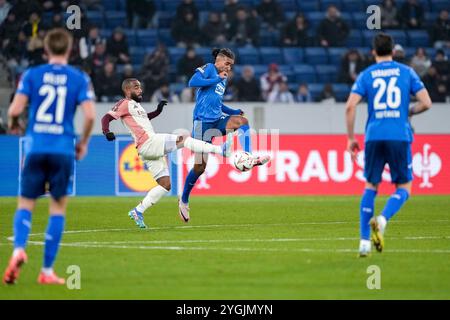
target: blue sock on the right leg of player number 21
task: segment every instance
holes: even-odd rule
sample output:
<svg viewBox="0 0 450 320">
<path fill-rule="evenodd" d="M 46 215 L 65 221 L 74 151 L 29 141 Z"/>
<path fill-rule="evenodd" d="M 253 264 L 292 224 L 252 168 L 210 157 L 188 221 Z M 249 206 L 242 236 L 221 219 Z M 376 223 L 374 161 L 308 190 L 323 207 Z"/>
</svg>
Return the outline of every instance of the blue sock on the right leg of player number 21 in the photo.
<svg viewBox="0 0 450 320">
<path fill-rule="evenodd" d="M 63 215 L 51 215 L 48 219 L 47 232 L 45 234 L 44 268 L 51 268 L 55 262 L 59 249 L 62 233 L 64 231 Z"/>
</svg>

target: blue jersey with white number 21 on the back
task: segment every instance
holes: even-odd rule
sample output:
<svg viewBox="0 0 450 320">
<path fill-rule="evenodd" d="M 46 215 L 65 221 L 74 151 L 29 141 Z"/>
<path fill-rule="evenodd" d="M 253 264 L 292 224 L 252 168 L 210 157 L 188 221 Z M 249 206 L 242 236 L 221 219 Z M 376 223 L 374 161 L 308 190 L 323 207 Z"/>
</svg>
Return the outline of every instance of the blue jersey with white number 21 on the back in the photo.
<svg viewBox="0 0 450 320">
<path fill-rule="evenodd" d="M 24 73 L 17 93 L 29 100 L 25 153 L 74 155 L 76 107 L 94 97 L 89 76 L 69 65 L 43 64 Z"/>
</svg>

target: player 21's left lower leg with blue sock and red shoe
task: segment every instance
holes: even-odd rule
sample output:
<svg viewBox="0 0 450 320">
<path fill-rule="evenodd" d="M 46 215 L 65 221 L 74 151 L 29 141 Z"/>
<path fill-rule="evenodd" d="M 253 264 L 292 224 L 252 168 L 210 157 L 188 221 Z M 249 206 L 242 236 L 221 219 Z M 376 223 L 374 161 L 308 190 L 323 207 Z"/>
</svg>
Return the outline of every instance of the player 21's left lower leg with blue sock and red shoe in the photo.
<svg viewBox="0 0 450 320">
<path fill-rule="evenodd" d="M 20 268 L 27 263 L 25 248 L 31 229 L 31 214 L 36 200 L 19 197 L 18 209 L 14 216 L 14 251 L 3 276 L 5 284 L 14 284 L 19 277 Z"/>
</svg>

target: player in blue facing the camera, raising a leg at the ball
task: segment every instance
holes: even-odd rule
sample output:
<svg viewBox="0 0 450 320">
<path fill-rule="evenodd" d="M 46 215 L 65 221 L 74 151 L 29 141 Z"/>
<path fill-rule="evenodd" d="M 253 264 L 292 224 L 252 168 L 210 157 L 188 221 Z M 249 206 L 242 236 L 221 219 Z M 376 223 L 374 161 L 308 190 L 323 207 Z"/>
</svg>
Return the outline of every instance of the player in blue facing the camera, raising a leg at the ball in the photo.
<svg viewBox="0 0 450 320">
<path fill-rule="evenodd" d="M 214 137 L 238 130 L 242 149 L 251 153 L 250 126 L 244 112 L 223 104 L 228 74 L 235 60 L 234 53 L 222 48 L 213 49 L 212 55 L 214 63 L 197 68 L 189 81 L 190 87 L 198 88 L 192 135 L 196 139 L 212 142 Z M 269 156 L 254 157 L 253 166 L 263 165 L 269 160 Z M 198 178 L 205 172 L 207 161 L 207 154 L 197 154 L 194 168 L 186 177 L 183 195 L 179 199 L 179 214 L 185 222 L 189 221 L 189 195 Z"/>
</svg>

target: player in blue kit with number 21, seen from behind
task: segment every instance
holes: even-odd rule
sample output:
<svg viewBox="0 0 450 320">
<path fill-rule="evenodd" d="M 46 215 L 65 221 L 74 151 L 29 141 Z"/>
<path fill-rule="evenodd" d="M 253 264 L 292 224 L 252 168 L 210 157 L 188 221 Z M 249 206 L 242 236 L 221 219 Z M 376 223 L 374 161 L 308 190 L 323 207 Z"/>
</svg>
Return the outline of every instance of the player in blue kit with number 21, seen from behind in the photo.
<svg viewBox="0 0 450 320">
<path fill-rule="evenodd" d="M 44 46 L 48 64 L 28 69 L 22 76 L 8 111 L 9 126 L 28 105 L 29 121 L 25 134 L 25 161 L 20 194 L 14 217 L 14 251 L 3 282 L 14 284 L 21 266 L 27 262 L 25 247 L 31 229 L 31 215 L 38 197 L 50 191 L 49 221 L 45 233 L 44 261 L 40 284 L 64 284 L 53 271 L 53 264 L 64 231 L 67 193 L 72 180 L 74 159 L 87 153 L 94 125 L 94 94 L 89 77 L 69 66 L 72 36 L 64 29 L 50 31 Z M 83 133 L 75 144 L 73 119 L 77 106 L 84 112 Z"/>
</svg>

